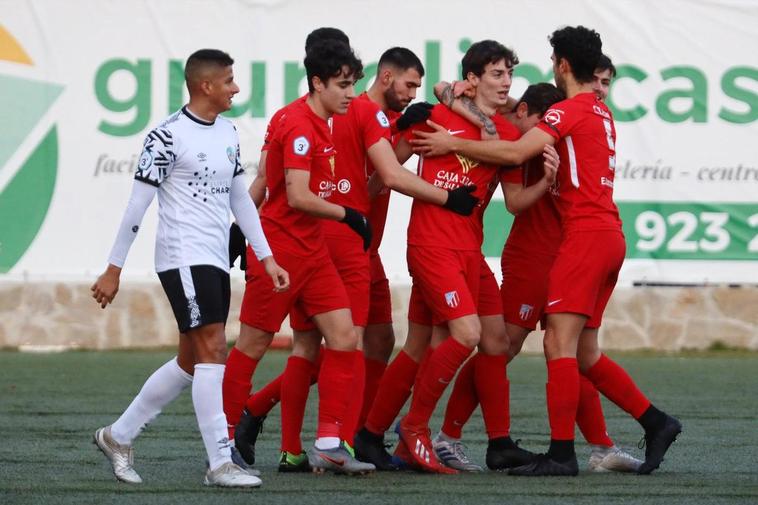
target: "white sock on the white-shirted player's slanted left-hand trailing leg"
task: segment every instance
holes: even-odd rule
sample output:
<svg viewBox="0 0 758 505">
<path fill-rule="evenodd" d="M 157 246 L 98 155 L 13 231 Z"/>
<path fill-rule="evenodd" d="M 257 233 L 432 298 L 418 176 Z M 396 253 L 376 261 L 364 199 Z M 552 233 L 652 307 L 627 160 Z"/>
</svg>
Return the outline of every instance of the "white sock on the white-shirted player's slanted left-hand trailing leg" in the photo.
<svg viewBox="0 0 758 505">
<path fill-rule="evenodd" d="M 131 445 L 163 407 L 174 401 L 190 384 L 192 376 L 179 367 L 176 358 L 171 358 L 148 377 L 132 403 L 111 425 L 113 440 L 121 445 Z"/>
</svg>

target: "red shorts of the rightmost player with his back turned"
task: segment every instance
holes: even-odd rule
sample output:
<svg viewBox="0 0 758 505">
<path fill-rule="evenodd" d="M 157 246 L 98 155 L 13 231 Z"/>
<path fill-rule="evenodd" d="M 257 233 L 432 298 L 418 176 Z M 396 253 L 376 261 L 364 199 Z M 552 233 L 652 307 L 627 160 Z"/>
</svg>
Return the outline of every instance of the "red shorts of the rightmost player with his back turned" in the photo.
<svg viewBox="0 0 758 505">
<path fill-rule="evenodd" d="M 584 314 L 585 327 L 599 328 L 625 254 L 620 230 L 568 233 L 550 270 L 545 313 Z"/>
</svg>

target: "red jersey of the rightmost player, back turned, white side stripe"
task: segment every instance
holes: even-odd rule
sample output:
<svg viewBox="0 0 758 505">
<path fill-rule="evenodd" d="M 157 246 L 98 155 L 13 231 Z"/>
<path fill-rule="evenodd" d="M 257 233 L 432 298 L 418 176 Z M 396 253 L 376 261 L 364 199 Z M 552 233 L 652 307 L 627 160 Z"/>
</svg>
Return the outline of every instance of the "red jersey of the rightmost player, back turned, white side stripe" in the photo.
<svg viewBox="0 0 758 505">
<path fill-rule="evenodd" d="M 561 164 L 551 192 L 564 231 L 620 231 L 613 202 L 616 127 L 608 107 L 594 93 L 580 93 L 553 105 L 537 127 L 558 141 Z"/>
</svg>

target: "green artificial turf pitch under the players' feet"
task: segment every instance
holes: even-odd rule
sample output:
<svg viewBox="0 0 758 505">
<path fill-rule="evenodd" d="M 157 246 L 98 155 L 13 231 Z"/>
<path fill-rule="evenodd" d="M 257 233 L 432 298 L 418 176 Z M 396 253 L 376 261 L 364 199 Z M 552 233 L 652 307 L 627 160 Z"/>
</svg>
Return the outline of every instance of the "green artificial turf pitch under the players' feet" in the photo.
<svg viewBox="0 0 758 505">
<path fill-rule="evenodd" d="M 756 354 L 615 356 L 651 400 L 684 425 L 662 468 L 651 476 L 587 472 L 589 449 L 580 437 L 576 478 L 492 472 L 280 475 L 277 407 L 257 446 L 263 486 L 208 489 L 201 484 L 205 454 L 185 392 L 135 444 L 135 468 L 144 484 L 121 484 L 91 443 L 92 434 L 113 422 L 170 356 L 165 351 L 0 352 L 0 504 L 758 503 Z M 285 359 L 282 352 L 266 356 L 256 372 L 256 389 L 283 369 Z M 544 360 L 519 357 L 509 367 L 509 378 L 512 435 L 529 449 L 545 450 Z M 445 400 L 432 420 L 433 430 L 439 429 Z M 313 388 L 303 432 L 306 447 L 312 443 L 316 401 Z M 608 402 L 604 408 L 614 441 L 641 455 L 637 423 Z M 487 439 L 479 411 L 464 438 L 472 459 L 483 464 Z"/>
</svg>

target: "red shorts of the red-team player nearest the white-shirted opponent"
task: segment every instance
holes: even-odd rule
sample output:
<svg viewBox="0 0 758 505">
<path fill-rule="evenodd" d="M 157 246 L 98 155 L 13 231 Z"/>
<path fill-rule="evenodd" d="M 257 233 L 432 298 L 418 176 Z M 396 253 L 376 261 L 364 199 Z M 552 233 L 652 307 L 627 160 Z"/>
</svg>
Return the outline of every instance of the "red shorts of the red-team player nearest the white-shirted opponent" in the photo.
<svg viewBox="0 0 758 505">
<path fill-rule="evenodd" d="M 279 266 L 290 275 L 290 288 L 283 293 L 274 292 L 271 278 L 248 247 L 241 322 L 276 333 L 287 313 L 292 317 L 297 312 L 310 319 L 316 314 L 350 307 L 345 287 L 326 250 L 305 258 L 282 251 L 275 251 L 274 255 Z"/>
</svg>

